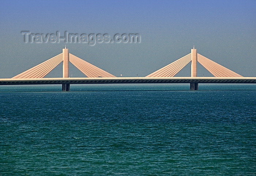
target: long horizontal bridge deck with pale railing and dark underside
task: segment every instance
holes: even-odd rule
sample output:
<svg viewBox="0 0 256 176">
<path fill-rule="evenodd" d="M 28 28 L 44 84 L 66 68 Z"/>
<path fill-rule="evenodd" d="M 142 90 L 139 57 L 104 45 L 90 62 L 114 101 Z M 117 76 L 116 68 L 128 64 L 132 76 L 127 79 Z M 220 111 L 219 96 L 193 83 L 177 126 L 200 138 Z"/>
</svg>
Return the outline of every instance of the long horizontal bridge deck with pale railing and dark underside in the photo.
<svg viewBox="0 0 256 176">
<path fill-rule="evenodd" d="M 0 85 L 110 83 L 256 83 L 256 77 L 4 78 Z"/>
</svg>

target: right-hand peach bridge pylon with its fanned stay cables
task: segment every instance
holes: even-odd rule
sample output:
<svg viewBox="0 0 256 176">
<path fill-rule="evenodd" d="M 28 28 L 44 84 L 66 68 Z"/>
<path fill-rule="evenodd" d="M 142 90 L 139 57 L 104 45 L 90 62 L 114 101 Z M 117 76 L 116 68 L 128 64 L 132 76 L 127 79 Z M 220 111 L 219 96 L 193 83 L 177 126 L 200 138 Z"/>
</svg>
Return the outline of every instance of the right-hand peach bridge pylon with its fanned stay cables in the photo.
<svg viewBox="0 0 256 176">
<path fill-rule="evenodd" d="M 220 64 L 198 54 L 196 49 L 191 49 L 191 53 L 184 57 L 168 64 L 167 66 L 147 75 L 146 77 L 174 77 L 181 69 L 183 69 L 189 62 L 191 63 L 191 77 L 197 76 L 196 63 L 197 61 L 208 70 L 214 77 L 242 77 Z"/>
</svg>

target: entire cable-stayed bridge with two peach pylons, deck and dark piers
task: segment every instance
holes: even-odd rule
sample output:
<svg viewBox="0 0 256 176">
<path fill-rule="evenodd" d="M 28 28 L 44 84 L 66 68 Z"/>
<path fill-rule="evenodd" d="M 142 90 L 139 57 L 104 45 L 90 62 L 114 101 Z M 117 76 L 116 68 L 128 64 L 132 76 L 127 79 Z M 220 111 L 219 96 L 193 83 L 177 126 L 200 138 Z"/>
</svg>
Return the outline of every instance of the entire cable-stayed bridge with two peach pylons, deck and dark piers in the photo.
<svg viewBox="0 0 256 176">
<path fill-rule="evenodd" d="M 63 78 L 44 78 L 50 71 L 63 62 Z M 69 62 L 87 78 L 69 78 Z M 174 77 L 191 62 L 191 77 Z M 197 77 L 197 62 L 202 64 L 214 77 Z M 62 84 L 63 91 L 70 90 L 70 84 L 103 83 L 190 83 L 191 90 L 198 90 L 198 83 L 256 83 L 256 77 L 241 75 L 197 53 L 191 53 L 147 75 L 146 77 L 115 77 L 114 75 L 69 53 L 63 52 L 24 71 L 10 79 L 0 79 L 0 85 Z"/>
</svg>

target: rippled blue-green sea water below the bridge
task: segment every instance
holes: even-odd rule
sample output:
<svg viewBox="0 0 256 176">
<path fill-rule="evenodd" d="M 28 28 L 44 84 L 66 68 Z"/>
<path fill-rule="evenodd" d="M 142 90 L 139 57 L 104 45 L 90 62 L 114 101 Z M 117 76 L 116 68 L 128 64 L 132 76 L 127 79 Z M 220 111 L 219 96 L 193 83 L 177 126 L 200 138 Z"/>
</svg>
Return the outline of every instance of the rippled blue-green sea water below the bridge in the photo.
<svg viewBox="0 0 256 176">
<path fill-rule="evenodd" d="M 256 175 L 256 86 L 188 89 L 0 86 L 0 175 Z"/>
</svg>

